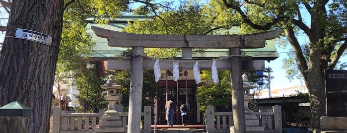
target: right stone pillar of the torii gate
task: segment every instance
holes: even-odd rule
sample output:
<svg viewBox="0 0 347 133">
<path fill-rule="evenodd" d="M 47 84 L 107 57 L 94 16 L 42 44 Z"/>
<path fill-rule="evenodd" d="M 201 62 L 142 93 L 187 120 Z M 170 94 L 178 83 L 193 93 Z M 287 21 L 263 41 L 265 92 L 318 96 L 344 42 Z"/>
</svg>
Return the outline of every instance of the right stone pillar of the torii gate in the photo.
<svg viewBox="0 0 347 133">
<path fill-rule="evenodd" d="M 240 48 L 230 48 L 230 79 L 231 79 L 231 99 L 232 115 L 235 133 L 246 133 L 245 109 L 242 87 L 242 58 Z"/>
</svg>

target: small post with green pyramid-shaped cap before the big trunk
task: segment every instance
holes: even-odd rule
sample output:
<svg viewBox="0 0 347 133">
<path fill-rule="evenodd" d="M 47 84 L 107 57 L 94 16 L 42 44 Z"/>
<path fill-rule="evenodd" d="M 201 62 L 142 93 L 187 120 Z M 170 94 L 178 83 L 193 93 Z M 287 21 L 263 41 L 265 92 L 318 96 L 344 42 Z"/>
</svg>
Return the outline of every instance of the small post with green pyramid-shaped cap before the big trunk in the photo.
<svg viewBox="0 0 347 133">
<path fill-rule="evenodd" d="M 2 133 L 29 133 L 31 109 L 17 101 L 0 108 Z"/>
</svg>

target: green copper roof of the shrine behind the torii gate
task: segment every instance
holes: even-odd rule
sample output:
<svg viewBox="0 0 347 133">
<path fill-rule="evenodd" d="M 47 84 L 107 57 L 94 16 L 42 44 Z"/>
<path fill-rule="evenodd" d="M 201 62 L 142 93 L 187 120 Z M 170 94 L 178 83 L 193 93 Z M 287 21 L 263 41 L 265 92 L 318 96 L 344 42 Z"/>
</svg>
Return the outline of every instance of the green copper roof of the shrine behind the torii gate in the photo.
<svg viewBox="0 0 347 133">
<path fill-rule="evenodd" d="M 148 16 L 140 16 L 140 15 L 129 15 L 129 16 L 120 16 L 119 18 L 115 18 L 110 20 L 108 25 L 96 24 L 93 22 L 93 18 L 87 19 L 87 33 L 91 35 L 92 41 L 95 42 L 95 46 L 93 47 L 93 53 L 90 55 L 89 60 L 107 60 L 107 59 L 115 59 L 122 55 L 124 51 L 127 51 L 128 48 L 120 48 L 120 47 L 110 47 L 107 45 L 106 38 L 99 38 L 95 35 L 95 33 L 91 30 L 91 26 L 98 26 L 105 29 L 110 29 L 114 31 L 122 31 L 125 27 L 128 26 L 128 21 L 134 20 L 145 20 L 150 19 Z M 237 27 L 231 28 L 229 34 L 238 34 L 240 31 Z M 216 31 L 216 34 L 224 34 L 223 31 Z M 272 61 L 278 58 L 278 52 L 275 48 L 274 40 L 267 40 L 266 46 L 264 48 L 259 49 L 242 49 L 241 52 L 245 56 L 252 56 L 253 60 L 267 60 Z M 193 58 L 196 59 L 216 59 L 220 56 L 227 56 L 228 49 L 206 49 L 203 53 L 194 53 Z M 181 55 L 178 55 L 180 58 Z"/>
</svg>

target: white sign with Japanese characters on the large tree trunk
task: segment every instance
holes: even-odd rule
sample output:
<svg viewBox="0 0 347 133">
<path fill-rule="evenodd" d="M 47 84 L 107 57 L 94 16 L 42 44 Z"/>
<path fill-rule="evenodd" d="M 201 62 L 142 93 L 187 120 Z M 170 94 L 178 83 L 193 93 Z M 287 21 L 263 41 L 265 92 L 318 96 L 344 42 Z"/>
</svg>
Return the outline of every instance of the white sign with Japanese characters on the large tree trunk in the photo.
<svg viewBox="0 0 347 133">
<path fill-rule="evenodd" d="M 27 29 L 16 29 L 16 35 L 14 36 L 15 38 L 20 38 L 20 39 L 25 39 L 25 40 L 30 40 L 46 45 L 51 45 L 52 44 L 52 36 L 46 35 L 40 32 L 32 31 L 32 30 L 27 30 Z"/>
</svg>

